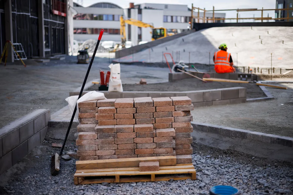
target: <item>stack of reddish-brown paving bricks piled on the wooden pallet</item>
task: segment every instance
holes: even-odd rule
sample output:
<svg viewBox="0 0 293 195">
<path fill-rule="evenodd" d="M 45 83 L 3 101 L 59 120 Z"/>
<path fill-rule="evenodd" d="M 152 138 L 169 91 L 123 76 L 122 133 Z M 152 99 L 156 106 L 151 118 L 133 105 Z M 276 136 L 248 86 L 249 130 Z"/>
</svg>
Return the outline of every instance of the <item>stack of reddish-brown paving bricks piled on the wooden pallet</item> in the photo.
<svg viewBox="0 0 293 195">
<path fill-rule="evenodd" d="M 103 99 L 80 102 L 79 160 L 177 156 L 191 163 L 191 99 Z"/>
</svg>

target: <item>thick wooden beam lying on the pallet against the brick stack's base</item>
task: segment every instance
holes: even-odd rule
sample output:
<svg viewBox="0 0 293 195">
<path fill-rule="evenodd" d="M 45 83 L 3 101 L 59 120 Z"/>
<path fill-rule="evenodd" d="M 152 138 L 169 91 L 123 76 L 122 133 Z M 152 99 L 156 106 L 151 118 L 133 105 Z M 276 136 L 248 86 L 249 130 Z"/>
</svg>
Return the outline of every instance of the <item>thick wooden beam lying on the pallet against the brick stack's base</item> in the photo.
<svg viewBox="0 0 293 195">
<path fill-rule="evenodd" d="M 139 167 L 140 162 L 159 162 L 160 166 L 176 165 L 176 156 L 156 156 L 127 159 L 84 160 L 76 161 L 76 169 L 106 169 Z"/>
</svg>

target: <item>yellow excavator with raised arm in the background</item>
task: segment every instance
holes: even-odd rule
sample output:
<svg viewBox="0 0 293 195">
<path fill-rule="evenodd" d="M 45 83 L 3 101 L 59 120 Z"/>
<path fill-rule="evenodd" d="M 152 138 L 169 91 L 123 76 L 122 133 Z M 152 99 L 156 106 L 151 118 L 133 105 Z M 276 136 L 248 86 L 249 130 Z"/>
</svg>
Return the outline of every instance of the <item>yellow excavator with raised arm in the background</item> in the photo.
<svg viewBox="0 0 293 195">
<path fill-rule="evenodd" d="M 141 28 L 150 27 L 152 29 L 152 32 L 150 32 L 152 34 L 152 41 L 154 41 L 156 39 L 162 39 L 166 36 L 169 36 L 167 34 L 166 28 L 162 28 L 162 27 L 155 28 L 151 24 L 147 24 L 147 23 L 141 22 L 139 20 L 131 19 L 131 18 L 124 20 L 123 16 L 120 16 L 120 35 L 122 36 L 121 37 L 121 44 L 116 44 L 114 49 L 111 52 L 115 52 L 117 50 L 125 48 L 125 42 L 126 42 L 125 24 L 135 25 L 135 26 L 141 27 Z M 171 36 L 171 34 L 170 34 L 170 36 Z"/>
</svg>

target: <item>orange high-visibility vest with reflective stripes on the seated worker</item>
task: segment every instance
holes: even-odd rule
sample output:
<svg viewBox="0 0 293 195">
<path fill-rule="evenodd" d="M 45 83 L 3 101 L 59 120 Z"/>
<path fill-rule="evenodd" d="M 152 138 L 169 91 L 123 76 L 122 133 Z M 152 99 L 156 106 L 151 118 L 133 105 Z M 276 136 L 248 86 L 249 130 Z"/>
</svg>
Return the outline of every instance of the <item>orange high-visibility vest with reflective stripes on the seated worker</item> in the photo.
<svg viewBox="0 0 293 195">
<path fill-rule="evenodd" d="M 233 67 L 230 65 L 230 53 L 224 50 L 215 52 L 215 71 L 216 73 L 231 73 Z"/>
</svg>

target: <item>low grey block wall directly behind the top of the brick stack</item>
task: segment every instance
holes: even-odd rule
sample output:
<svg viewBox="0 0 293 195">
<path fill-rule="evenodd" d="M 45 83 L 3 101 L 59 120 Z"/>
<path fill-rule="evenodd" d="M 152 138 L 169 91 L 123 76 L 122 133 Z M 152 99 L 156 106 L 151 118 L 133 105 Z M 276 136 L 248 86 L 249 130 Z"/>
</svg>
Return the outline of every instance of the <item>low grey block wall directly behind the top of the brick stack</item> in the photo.
<svg viewBox="0 0 293 195">
<path fill-rule="evenodd" d="M 88 91 L 84 91 L 83 95 Z M 222 89 L 209 89 L 199 91 L 123 91 L 123 92 L 108 92 L 98 91 L 104 93 L 107 99 L 115 98 L 135 98 L 135 97 L 174 97 L 174 96 L 188 96 L 194 107 L 211 106 L 211 105 L 226 105 L 238 104 L 246 102 L 246 88 L 245 87 L 230 87 Z M 69 96 L 79 95 L 79 92 L 70 92 Z"/>
</svg>

